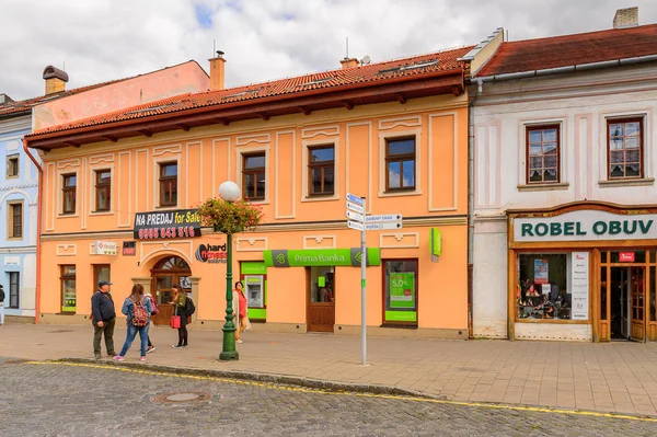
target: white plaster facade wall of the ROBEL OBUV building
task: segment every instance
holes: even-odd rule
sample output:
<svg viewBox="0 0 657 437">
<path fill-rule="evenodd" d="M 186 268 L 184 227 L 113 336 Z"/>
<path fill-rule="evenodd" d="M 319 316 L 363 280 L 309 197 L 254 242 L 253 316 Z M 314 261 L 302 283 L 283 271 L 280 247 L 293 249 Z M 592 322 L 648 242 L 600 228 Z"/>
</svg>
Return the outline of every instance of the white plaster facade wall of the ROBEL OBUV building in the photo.
<svg viewBox="0 0 657 437">
<path fill-rule="evenodd" d="M 506 276 L 494 274 L 506 275 L 508 271 L 505 211 L 578 200 L 654 204 L 657 80 L 654 67 L 635 66 L 484 83 L 473 111 L 474 335 L 506 337 L 508 281 Z M 636 115 L 644 117 L 645 177 L 633 183 L 609 183 L 606 119 Z M 561 125 L 561 184 L 529 187 L 526 126 L 546 123 Z"/>
</svg>

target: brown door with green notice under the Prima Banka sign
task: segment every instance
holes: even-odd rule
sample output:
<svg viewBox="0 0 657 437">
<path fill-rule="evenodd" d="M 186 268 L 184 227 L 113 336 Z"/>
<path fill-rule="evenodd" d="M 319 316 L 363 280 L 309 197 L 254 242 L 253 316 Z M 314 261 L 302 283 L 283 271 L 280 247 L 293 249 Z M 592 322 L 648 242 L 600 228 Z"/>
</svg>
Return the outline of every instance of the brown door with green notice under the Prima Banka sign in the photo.
<svg viewBox="0 0 657 437">
<path fill-rule="evenodd" d="M 306 267 L 307 324 L 311 332 L 333 332 L 335 325 L 335 267 Z"/>
</svg>

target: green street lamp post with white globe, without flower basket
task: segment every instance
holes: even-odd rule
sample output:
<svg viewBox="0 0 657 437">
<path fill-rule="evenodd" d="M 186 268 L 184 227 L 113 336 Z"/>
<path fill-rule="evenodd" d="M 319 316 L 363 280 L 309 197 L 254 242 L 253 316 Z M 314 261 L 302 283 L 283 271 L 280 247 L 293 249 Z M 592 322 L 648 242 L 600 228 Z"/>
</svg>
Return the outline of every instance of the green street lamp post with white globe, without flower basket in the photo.
<svg viewBox="0 0 657 437">
<path fill-rule="evenodd" d="M 240 187 L 231 181 L 226 181 L 219 186 L 219 196 L 226 202 L 235 202 L 240 198 Z M 226 323 L 223 324 L 223 348 L 219 354 L 222 361 L 238 360 L 240 354 L 235 350 L 235 325 L 232 310 L 232 232 L 227 231 L 226 253 Z"/>
</svg>

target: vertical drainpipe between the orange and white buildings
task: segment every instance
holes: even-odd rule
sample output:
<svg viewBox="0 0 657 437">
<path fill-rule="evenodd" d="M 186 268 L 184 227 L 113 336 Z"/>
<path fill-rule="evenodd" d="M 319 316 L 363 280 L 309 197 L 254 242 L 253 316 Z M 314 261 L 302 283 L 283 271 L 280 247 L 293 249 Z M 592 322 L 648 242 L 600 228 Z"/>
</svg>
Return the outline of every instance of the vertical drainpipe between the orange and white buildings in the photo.
<svg viewBox="0 0 657 437">
<path fill-rule="evenodd" d="M 482 92 L 482 81 L 477 81 L 476 93 L 468 103 L 468 335 L 474 337 L 472 304 L 474 300 L 474 101 Z"/>
</svg>

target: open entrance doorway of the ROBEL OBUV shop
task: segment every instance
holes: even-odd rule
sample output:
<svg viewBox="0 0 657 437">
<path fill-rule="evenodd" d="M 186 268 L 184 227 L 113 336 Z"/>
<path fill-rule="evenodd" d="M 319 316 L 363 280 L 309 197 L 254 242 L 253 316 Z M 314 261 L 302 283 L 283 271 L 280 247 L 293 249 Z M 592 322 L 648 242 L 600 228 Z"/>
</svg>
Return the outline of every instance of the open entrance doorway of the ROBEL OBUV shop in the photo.
<svg viewBox="0 0 657 437">
<path fill-rule="evenodd" d="M 611 340 L 645 341 L 645 267 L 611 267 Z"/>
</svg>

